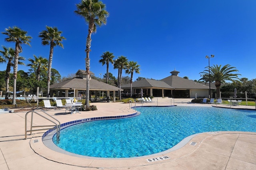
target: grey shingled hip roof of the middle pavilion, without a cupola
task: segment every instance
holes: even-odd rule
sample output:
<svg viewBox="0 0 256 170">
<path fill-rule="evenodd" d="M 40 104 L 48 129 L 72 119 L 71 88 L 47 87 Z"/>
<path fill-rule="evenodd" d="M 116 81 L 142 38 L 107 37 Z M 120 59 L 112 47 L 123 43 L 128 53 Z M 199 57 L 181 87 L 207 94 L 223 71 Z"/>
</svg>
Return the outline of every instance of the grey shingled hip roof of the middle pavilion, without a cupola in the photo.
<svg viewBox="0 0 256 170">
<path fill-rule="evenodd" d="M 132 82 L 133 88 L 145 88 L 145 87 L 155 87 L 155 88 L 168 88 L 174 89 L 172 86 L 169 86 L 163 81 L 151 80 L 151 79 L 142 79 L 136 82 Z M 122 88 L 130 88 L 130 83 L 122 85 Z"/>
</svg>

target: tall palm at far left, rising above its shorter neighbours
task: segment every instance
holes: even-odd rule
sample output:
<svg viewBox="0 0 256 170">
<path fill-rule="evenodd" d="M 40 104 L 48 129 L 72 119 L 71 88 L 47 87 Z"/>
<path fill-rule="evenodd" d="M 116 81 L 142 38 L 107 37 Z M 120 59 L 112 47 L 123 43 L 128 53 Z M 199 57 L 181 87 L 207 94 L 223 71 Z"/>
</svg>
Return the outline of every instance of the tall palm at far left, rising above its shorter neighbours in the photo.
<svg viewBox="0 0 256 170">
<path fill-rule="evenodd" d="M 8 37 L 4 40 L 6 42 L 15 42 L 15 51 L 14 51 L 14 83 L 13 83 L 13 98 L 12 98 L 12 104 L 16 105 L 16 81 L 17 81 L 17 72 L 18 72 L 18 60 L 19 60 L 19 53 L 22 52 L 21 44 L 29 44 L 31 36 L 27 35 L 27 32 L 24 30 L 21 30 L 20 28 L 14 26 L 9 27 L 5 29 L 5 32 L 2 32 L 2 34 L 7 35 Z"/>
</svg>

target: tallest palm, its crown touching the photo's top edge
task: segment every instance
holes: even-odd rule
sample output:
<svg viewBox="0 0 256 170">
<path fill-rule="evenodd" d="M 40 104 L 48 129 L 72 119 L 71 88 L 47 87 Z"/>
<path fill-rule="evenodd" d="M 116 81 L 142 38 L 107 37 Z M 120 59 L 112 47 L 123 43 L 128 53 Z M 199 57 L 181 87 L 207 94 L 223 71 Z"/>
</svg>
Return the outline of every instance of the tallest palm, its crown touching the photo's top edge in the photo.
<svg viewBox="0 0 256 170">
<path fill-rule="evenodd" d="M 82 0 L 80 4 L 76 4 L 74 12 L 84 18 L 88 23 L 88 35 L 86 39 L 86 109 L 89 106 L 89 84 L 90 84 L 90 47 L 91 47 L 91 36 L 93 32 L 96 32 L 96 26 L 106 24 L 108 12 L 105 10 L 105 4 L 98 0 Z"/>
</svg>

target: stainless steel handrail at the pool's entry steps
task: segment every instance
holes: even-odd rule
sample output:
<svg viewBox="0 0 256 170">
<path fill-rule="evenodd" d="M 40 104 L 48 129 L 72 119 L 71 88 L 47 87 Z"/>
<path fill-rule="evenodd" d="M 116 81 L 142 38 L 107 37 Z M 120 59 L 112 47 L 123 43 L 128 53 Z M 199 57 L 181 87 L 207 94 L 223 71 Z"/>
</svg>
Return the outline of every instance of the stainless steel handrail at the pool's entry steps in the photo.
<svg viewBox="0 0 256 170">
<path fill-rule="evenodd" d="M 28 114 L 31 113 L 31 121 L 30 121 L 30 130 L 28 130 Z M 41 116 L 42 118 L 48 120 L 49 122 L 52 122 L 51 125 L 39 125 L 39 126 L 33 126 L 33 117 L 34 114 L 37 114 L 38 116 Z M 42 128 L 42 127 L 48 127 L 48 128 Z M 37 128 L 37 129 L 32 129 Z M 60 140 L 60 121 L 58 121 L 56 118 L 52 117 L 50 114 L 44 112 L 44 110 L 36 108 L 35 110 L 29 111 L 26 113 L 25 116 L 25 139 L 27 139 L 27 133 L 30 132 L 30 135 L 34 131 L 39 130 L 50 130 L 50 129 L 56 129 L 57 130 L 57 140 Z"/>
</svg>

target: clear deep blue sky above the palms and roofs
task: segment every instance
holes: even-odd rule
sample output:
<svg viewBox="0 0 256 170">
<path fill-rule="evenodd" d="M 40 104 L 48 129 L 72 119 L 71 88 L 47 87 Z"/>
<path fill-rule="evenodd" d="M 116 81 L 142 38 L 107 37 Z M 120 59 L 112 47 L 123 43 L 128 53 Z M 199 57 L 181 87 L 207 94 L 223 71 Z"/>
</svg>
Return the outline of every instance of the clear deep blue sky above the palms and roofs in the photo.
<svg viewBox="0 0 256 170">
<path fill-rule="evenodd" d="M 20 56 L 49 58 L 50 46 L 42 46 L 38 33 L 45 26 L 62 31 L 64 49 L 54 48 L 52 68 L 61 76 L 85 70 L 84 52 L 88 25 L 74 14 L 80 0 L 12 0 L 0 6 L 0 32 L 18 26 L 32 36 L 31 47 L 22 45 Z M 90 70 L 95 76 L 106 73 L 98 62 L 103 52 L 126 56 L 140 65 L 138 76 L 160 80 L 179 71 L 179 76 L 200 79 L 208 66 L 206 55 L 214 54 L 212 64 L 230 64 L 239 78 L 256 78 L 256 0 L 102 0 L 109 12 L 107 24 L 92 35 Z M 0 45 L 14 47 L 4 42 Z M 2 50 L 2 47 L 1 47 Z M 28 60 L 25 61 L 28 64 Z M 0 64 L 5 70 L 6 64 Z M 28 67 L 18 70 L 28 72 Z M 117 77 L 117 70 L 109 70 Z M 123 76 L 126 76 L 123 74 Z M 130 75 L 129 75 L 130 76 Z"/>
</svg>

